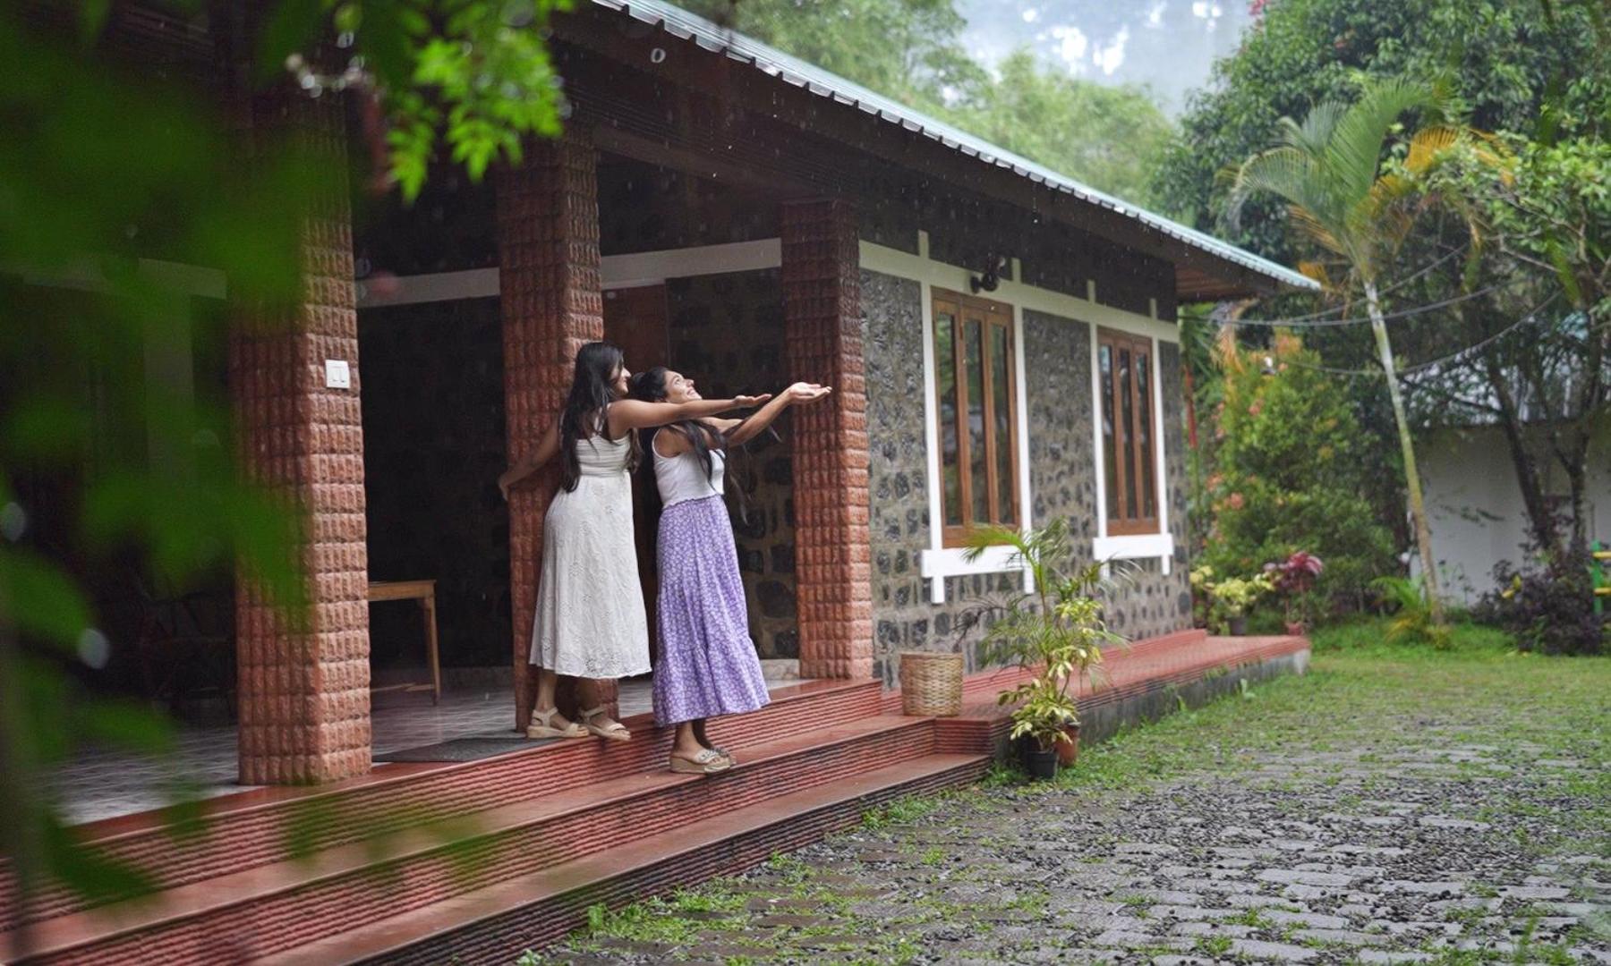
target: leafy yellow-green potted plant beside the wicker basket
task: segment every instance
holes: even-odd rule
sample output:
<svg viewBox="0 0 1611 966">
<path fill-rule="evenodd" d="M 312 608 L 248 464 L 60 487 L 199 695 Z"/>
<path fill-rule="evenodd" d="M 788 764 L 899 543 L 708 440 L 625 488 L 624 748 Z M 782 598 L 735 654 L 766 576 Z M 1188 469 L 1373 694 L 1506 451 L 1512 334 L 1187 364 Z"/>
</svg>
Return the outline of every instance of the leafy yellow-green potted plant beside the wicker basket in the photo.
<svg viewBox="0 0 1611 966">
<path fill-rule="evenodd" d="M 965 615 L 963 633 L 986 621 L 983 660 L 1028 671 L 1026 679 L 996 700 L 1013 705 L 1012 737 L 1025 747 L 1029 773 L 1050 778 L 1060 762 L 1071 765 L 1079 750 L 1075 684 L 1099 670 L 1102 644 L 1123 642 L 1107 630 L 1102 605 L 1092 597 L 1108 581 L 1100 564 L 1065 573 L 1063 564 L 1071 557 L 1065 520 L 1026 533 L 979 531 L 968 543 L 968 560 L 989 547 L 1008 547 L 1010 564 L 1028 570 L 1033 589 L 986 599 Z"/>
</svg>

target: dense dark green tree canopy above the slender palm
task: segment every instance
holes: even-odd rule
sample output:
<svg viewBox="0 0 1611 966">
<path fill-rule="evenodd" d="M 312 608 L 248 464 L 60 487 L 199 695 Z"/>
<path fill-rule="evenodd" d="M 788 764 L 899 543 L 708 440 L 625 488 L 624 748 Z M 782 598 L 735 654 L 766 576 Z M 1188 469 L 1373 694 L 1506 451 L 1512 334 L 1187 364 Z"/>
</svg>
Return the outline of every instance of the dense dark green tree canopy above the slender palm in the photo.
<svg viewBox="0 0 1611 966">
<path fill-rule="evenodd" d="M 1236 56 L 1191 98 L 1158 180 L 1165 213 L 1278 261 L 1297 261 L 1273 201 L 1226 217 L 1215 179 L 1273 140 L 1281 118 L 1353 100 L 1371 77 L 1442 80 L 1481 130 L 1603 122 L 1611 80 L 1592 3 L 1542 0 L 1274 0 Z M 1547 109 L 1548 105 L 1548 109 Z"/>
</svg>

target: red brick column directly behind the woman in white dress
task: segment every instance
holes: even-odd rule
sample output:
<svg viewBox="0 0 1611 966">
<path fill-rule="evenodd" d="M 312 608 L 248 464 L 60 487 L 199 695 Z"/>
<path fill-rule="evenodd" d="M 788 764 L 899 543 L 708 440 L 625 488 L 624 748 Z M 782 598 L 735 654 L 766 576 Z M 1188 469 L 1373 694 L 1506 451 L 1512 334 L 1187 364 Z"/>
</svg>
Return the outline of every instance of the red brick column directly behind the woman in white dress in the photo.
<svg viewBox="0 0 1611 966">
<path fill-rule="evenodd" d="M 604 338 L 599 291 L 598 161 L 577 134 L 538 142 L 525 161 L 499 172 L 498 283 L 504 330 L 504 406 L 509 462 L 530 452 L 559 419 L 577 349 Z M 527 673 L 543 514 L 559 483 L 557 465 L 509 494 L 509 591 L 514 601 L 516 728 L 524 729 L 536 691 Z M 562 697 L 565 687 L 562 686 Z M 614 686 L 606 687 L 614 702 Z M 570 700 L 561 702 L 570 705 Z M 567 708 L 569 710 L 569 708 Z"/>
</svg>

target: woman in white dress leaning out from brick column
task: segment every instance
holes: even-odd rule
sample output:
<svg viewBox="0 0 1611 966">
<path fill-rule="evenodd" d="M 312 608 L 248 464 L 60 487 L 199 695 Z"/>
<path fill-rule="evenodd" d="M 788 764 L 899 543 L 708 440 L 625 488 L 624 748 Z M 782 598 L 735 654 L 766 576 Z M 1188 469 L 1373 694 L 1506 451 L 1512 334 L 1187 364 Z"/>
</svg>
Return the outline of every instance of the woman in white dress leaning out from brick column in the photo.
<svg viewBox="0 0 1611 966">
<path fill-rule="evenodd" d="M 638 588 L 632 528 L 632 470 L 636 430 L 751 407 L 768 396 L 696 399 L 681 404 L 627 399 L 620 349 L 586 343 L 559 422 L 532 456 L 498 478 L 509 489 L 561 457 L 562 485 L 543 518 L 543 568 L 536 588 L 532 663 L 536 704 L 528 737 L 632 737 L 604 713 L 599 681 L 649 671 L 649 630 Z M 580 678 L 582 723 L 554 707 L 559 675 Z"/>
</svg>

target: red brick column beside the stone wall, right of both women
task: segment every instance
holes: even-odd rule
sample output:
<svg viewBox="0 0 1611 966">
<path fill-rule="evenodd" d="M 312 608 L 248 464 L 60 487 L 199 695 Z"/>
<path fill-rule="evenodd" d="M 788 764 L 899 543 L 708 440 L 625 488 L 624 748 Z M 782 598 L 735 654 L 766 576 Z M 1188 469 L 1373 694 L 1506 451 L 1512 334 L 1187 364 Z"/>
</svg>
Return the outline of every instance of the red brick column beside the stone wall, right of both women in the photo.
<svg viewBox="0 0 1611 966">
<path fill-rule="evenodd" d="M 826 401 L 793 411 L 801 676 L 870 678 L 873 591 L 855 213 L 844 201 L 791 201 L 781 221 L 789 374 L 833 385 Z"/>
</svg>

